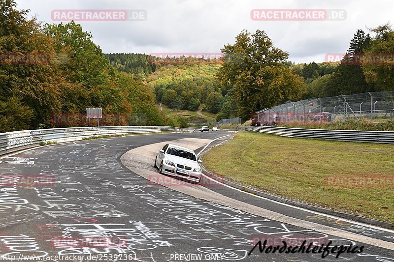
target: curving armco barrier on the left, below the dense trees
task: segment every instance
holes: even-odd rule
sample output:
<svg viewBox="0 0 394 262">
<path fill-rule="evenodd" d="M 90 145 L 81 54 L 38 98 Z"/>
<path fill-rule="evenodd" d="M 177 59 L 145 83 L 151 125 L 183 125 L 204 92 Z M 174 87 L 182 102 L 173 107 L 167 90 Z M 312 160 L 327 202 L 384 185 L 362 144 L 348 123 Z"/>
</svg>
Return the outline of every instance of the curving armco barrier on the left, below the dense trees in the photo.
<svg viewBox="0 0 394 262">
<path fill-rule="evenodd" d="M 158 133 L 164 131 L 189 131 L 170 126 L 102 126 L 23 130 L 0 133 L 0 155 L 39 146 L 47 142 L 70 142 L 88 137 L 132 133 Z"/>
</svg>

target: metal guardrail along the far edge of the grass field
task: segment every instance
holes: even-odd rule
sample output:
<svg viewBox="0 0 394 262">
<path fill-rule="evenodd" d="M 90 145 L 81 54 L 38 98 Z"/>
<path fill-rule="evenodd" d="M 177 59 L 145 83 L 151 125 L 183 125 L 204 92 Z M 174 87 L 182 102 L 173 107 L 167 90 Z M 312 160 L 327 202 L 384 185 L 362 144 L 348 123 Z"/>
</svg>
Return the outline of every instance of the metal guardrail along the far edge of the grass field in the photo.
<svg viewBox="0 0 394 262">
<path fill-rule="evenodd" d="M 255 132 L 275 134 L 283 137 L 394 144 L 394 132 L 392 131 L 302 129 L 273 126 L 252 126 L 251 129 Z"/>
</svg>

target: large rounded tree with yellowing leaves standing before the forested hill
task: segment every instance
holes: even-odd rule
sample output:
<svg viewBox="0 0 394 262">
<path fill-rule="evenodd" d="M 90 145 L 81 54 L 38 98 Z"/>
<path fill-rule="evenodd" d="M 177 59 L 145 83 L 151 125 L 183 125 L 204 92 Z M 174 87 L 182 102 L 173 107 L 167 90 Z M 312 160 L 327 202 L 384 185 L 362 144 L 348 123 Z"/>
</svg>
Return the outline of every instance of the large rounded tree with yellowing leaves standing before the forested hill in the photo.
<svg viewBox="0 0 394 262">
<path fill-rule="evenodd" d="M 222 53 L 224 63 L 218 78 L 232 89 L 237 113 L 243 119 L 264 107 L 299 99 L 305 92 L 303 79 L 285 65 L 289 54 L 275 48 L 262 30 L 253 34 L 243 30 L 235 44 L 225 45 Z"/>
</svg>

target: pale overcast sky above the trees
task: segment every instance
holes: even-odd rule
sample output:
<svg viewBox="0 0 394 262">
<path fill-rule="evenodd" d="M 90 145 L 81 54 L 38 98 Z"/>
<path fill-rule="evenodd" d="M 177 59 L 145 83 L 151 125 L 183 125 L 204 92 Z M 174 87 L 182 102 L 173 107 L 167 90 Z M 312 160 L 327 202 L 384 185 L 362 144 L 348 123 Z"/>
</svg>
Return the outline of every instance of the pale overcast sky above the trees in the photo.
<svg viewBox="0 0 394 262">
<path fill-rule="evenodd" d="M 77 22 L 104 53 L 219 53 L 242 30 L 264 30 L 296 63 L 344 53 L 357 29 L 392 22 L 393 0 L 17 0 L 38 21 L 59 9 L 146 10 L 145 21 Z M 252 9 L 343 9 L 340 21 L 253 21 Z"/>
</svg>

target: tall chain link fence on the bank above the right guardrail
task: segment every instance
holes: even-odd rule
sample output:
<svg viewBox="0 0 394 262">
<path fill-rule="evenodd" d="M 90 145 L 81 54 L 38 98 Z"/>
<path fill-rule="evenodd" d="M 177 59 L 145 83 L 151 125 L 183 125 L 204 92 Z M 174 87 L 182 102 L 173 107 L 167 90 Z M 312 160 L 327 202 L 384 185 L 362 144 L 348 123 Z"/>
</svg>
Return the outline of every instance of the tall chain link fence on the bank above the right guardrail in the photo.
<svg viewBox="0 0 394 262">
<path fill-rule="evenodd" d="M 270 125 L 286 122 L 392 119 L 394 91 L 310 98 L 265 108 L 256 112 L 255 118 L 258 122 Z"/>
</svg>

